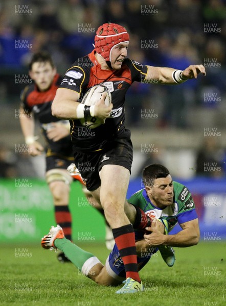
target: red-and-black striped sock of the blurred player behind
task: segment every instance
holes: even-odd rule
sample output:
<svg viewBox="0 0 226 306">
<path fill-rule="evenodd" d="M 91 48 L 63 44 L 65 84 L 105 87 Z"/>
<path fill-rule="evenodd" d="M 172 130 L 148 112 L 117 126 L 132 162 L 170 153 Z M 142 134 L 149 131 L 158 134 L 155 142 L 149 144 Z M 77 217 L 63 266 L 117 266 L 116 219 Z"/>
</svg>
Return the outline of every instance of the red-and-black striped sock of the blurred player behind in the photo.
<svg viewBox="0 0 226 306">
<path fill-rule="evenodd" d="M 55 220 L 63 228 L 65 238 L 72 240 L 72 216 L 67 205 L 55 206 Z"/>
</svg>

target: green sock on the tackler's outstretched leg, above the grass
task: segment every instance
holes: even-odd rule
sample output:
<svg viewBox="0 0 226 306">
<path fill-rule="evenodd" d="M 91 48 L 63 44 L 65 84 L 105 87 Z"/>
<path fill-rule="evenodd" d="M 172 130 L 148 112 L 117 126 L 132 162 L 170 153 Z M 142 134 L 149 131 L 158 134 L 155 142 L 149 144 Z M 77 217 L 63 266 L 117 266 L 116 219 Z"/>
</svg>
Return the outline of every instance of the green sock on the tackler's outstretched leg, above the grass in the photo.
<svg viewBox="0 0 226 306">
<path fill-rule="evenodd" d="M 81 271 L 87 259 L 94 257 L 92 253 L 86 252 L 66 238 L 57 238 L 54 241 L 55 247 L 64 252 L 65 256 Z"/>
</svg>

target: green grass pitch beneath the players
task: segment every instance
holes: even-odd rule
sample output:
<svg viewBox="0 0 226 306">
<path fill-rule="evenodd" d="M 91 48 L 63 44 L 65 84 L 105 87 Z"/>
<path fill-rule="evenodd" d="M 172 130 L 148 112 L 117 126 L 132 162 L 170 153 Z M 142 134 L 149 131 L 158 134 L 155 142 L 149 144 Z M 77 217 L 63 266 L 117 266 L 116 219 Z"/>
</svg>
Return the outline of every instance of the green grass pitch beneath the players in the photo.
<svg viewBox="0 0 226 306">
<path fill-rule="evenodd" d="M 105 262 L 108 251 L 104 245 L 80 246 Z M 1 305 L 226 305 L 223 242 L 175 248 L 176 262 L 172 268 L 160 255 L 153 257 L 140 272 L 146 291 L 126 295 L 115 294 L 114 287 L 96 285 L 72 264 L 58 263 L 54 252 L 36 245 L 16 248 L 20 248 L 20 253 L 22 248 L 28 248 L 30 257 L 15 257 L 15 246 L 0 246 Z"/>
</svg>

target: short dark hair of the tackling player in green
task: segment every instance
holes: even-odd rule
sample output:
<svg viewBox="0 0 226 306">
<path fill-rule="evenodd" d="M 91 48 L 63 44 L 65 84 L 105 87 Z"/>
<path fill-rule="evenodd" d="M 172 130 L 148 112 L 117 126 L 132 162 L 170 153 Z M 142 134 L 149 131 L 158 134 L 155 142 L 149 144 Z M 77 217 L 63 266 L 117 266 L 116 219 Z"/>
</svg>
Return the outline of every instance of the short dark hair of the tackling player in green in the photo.
<svg viewBox="0 0 226 306">
<path fill-rule="evenodd" d="M 155 179 L 160 177 L 166 177 L 169 174 L 169 170 L 160 164 L 152 164 L 144 168 L 143 170 L 143 182 L 144 186 L 152 187 Z"/>
</svg>

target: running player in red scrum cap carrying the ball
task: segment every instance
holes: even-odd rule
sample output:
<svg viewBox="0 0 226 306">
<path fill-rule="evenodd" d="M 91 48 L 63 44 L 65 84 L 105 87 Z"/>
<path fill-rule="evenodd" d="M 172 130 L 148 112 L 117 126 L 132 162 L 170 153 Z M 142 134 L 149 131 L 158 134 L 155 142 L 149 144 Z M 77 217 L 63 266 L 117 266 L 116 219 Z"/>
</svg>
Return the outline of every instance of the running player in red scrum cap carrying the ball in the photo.
<svg viewBox="0 0 226 306">
<path fill-rule="evenodd" d="M 126 271 L 122 293 L 142 290 L 134 230 L 124 212 L 132 164 L 130 131 L 125 128 L 126 91 L 134 81 L 176 85 L 197 78 L 199 72 L 206 73 L 202 65 L 190 65 L 184 71 L 142 65 L 126 58 L 128 45 L 129 34 L 124 27 L 116 23 L 101 25 L 95 36 L 95 49 L 66 71 L 52 104 L 54 116 L 71 120 L 75 164 L 112 228 Z M 84 93 L 97 84 L 107 86 L 111 92 L 109 107 L 104 104 L 104 95 L 95 106 L 80 103 Z M 87 136 L 91 134 L 88 129 L 84 137 L 79 135 L 79 119 L 86 117 L 105 122 L 95 129 L 94 136 Z M 86 171 L 87 164 L 94 170 Z M 142 210 L 138 218 L 141 226 L 150 223 Z"/>
</svg>

